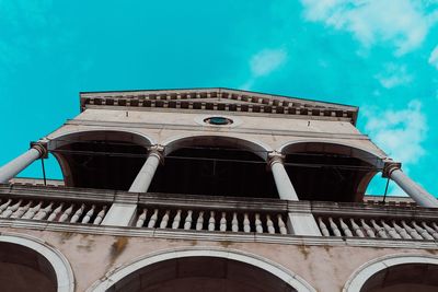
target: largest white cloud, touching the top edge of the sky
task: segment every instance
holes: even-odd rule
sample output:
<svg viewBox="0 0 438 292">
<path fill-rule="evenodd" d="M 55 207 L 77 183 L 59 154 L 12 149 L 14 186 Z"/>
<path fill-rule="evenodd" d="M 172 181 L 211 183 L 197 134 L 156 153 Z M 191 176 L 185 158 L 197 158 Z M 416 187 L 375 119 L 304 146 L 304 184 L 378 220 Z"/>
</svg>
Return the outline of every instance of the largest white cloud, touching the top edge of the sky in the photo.
<svg viewBox="0 0 438 292">
<path fill-rule="evenodd" d="M 362 45 L 390 42 L 396 55 L 422 45 L 435 13 L 415 0 L 301 0 L 304 17 L 350 32 Z"/>
</svg>

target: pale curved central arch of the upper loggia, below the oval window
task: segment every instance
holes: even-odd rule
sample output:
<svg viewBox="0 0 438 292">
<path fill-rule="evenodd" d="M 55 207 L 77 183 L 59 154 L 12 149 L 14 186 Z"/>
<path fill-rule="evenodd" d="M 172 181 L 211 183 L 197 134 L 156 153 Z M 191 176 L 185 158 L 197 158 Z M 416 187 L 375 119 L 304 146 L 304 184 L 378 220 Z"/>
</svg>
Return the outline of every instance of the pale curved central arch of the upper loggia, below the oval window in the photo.
<svg viewBox="0 0 438 292">
<path fill-rule="evenodd" d="M 169 139 L 162 143 L 164 145 L 164 155 L 172 153 L 181 148 L 188 145 L 220 145 L 220 147 L 233 147 L 244 149 L 253 152 L 264 161 L 267 160 L 268 152 L 273 149 L 260 141 L 242 139 L 232 136 L 220 136 L 220 135 L 191 135 L 180 136 Z"/>
</svg>

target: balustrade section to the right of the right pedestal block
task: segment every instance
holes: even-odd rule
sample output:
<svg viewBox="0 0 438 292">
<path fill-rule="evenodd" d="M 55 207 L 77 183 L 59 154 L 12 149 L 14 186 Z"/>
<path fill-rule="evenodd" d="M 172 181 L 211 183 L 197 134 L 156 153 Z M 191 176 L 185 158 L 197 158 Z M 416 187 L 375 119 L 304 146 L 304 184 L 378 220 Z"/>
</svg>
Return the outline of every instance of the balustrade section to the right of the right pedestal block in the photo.
<svg viewBox="0 0 438 292">
<path fill-rule="evenodd" d="M 323 236 L 438 240 L 434 209 L 327 202 L 313 202 L 312 207 Z"/>
</svg>

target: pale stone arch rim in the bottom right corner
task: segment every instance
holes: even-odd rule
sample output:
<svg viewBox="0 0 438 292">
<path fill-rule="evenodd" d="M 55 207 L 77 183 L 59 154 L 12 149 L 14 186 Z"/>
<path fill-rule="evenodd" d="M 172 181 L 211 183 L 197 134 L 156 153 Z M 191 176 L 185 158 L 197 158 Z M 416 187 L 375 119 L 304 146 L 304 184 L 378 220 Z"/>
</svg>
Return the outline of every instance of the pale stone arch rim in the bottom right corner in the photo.
<svg viewBox="0 0 438 292">
<path fill-rule="evenodd" d="M 404 266 L 407 265 L 407 266 Z M 389 255 L 384 257 L 379 257 L 373 260 L 366 262 L 360 266 L 354 273 L 349 277 L 348 281 L 343 288 L 343 292 L 367 292 L 367 282 L 370 284 L 369 280 L 376 280 L 376 276 L 382 275 L 384 271 L 390 271 L 394 268 L 408 267 L 408 265 L 433 265 L 435 272 L 434 276 L 438 276 L 438 257 L 429 255 L 410 255 L 410 254 L 397 254 Z M 395 271 L 396 272 L 396 271 Z M 383 275 L 382 275 L 383 276 Z M 383 277 L 382 277 L 383 278 Z M 433 277 L 436 279 L 436 277 Z M 435 280 L 435 289 L 438 288 L 438 281 Z M 416 290 L 420 292 L 422 290 Z M 431 291 L 431 290 L 428 290 Z"/>
</svg>

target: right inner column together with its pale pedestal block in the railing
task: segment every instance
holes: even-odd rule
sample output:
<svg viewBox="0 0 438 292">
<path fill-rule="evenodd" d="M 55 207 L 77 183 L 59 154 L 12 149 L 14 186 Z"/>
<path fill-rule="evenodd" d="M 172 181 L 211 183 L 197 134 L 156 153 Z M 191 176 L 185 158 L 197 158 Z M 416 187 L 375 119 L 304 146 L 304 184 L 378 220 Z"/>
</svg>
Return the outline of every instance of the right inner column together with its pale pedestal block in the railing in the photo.
<svg viewBox="0 0 438 292">
<path fill-rule="evenodd" d="M 281 153 L 276 151 L 269 153 L 269 165 L 273 171 L 275 185 L 277 187 L 278 195 L 283 200 L 298 201 L 297 191 L 290 182 L 289 175 L 286 172 L 284 159 Z M 306 205 L 306 208 L 300 203 L 299 208 L 293 208 L 288 213 L 287 221 L 289 233 L 302 236 L 321 236 L 320 229 L 318 227 L 316 221 L 310 209 L 310 205 Z"/>
</svg>

